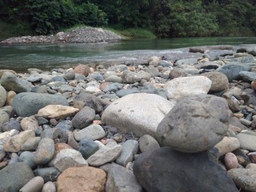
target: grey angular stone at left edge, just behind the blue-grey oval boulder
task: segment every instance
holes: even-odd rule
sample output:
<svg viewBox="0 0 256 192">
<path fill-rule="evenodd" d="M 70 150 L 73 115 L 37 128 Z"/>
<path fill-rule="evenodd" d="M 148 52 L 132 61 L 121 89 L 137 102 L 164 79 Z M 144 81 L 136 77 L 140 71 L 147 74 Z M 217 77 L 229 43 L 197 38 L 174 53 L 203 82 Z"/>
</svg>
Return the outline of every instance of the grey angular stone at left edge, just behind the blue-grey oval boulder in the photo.
<svg viewBox="0 0 256 192">
<path fill-rule="evenodd" d="M 14 90 L 15 93 L 30 92 L 32 90 L 32 83 L 22 78 L 17 78 L 15 74 L 5 72 L 2 74 L 0 84 L 7 90 Z"/>
</svg>

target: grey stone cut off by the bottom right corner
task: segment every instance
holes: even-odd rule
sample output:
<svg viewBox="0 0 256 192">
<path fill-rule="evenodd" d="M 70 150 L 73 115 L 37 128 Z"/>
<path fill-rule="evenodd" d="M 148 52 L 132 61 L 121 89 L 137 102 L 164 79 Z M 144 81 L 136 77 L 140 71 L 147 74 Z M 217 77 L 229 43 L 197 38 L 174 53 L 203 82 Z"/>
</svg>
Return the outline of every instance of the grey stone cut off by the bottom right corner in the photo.
<svg viewBox="0 0 256 192">
<path fill-rule="evenodd" d="M 256 191 L 256 174 L 254 169 L 237 168 L 227 171 L 227 174 L 242 190 Z"/>
</svg>

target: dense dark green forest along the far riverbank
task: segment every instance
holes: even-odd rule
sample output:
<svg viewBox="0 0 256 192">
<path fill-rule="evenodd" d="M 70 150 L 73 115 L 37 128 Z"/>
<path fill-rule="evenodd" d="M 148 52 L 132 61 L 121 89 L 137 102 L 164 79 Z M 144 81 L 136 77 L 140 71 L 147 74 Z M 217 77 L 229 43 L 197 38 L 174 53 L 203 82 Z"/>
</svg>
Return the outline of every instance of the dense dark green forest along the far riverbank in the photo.
<svg viewBox="0 0 256 192">
<path fill-rule="evenodd" d="M 143 29 L 158 38 L 254 36 L 255 18 L 254 0 L 0 0 L 0 37 L 79 25 Z"/>
</svg>

